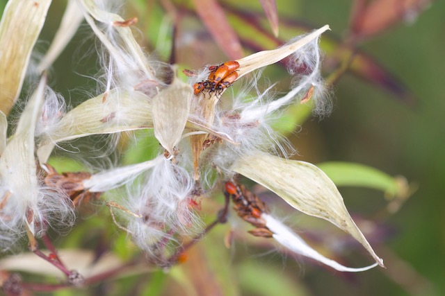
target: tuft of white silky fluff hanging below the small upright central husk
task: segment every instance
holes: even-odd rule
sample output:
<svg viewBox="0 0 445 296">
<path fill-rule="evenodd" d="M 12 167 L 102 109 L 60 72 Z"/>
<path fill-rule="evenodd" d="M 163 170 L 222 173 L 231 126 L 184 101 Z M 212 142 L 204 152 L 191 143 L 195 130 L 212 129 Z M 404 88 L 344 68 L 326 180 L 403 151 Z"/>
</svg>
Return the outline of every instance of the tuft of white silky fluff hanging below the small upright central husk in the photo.
<svg viewBox="0 0 445 296">
<path fill-rule="evenodd" d="M 146 252 L 161 238 L 171 239 L 172 234 L 190 234 L 197 229 L 197 217 L 189 207 L 194 181 L 191 174 L 172 164 L 168 159 L 152 168 L 144 184 L 129 187 L 127 208 L 140 215 L 126 216 L 127 229 L 133 241 Z"/>
</svg>

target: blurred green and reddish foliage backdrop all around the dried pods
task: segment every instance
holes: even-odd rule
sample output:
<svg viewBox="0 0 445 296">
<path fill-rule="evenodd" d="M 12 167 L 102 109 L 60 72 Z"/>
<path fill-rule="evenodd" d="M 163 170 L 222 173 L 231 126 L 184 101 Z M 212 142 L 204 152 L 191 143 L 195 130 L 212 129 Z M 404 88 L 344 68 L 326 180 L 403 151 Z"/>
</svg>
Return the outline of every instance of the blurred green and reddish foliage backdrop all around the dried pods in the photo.
<svg viewBox="0 0 445 296">
<path fill-rule="evenodd" d="M 323 35 L 321 45 L 326 53 L 325 76 L 334 83 L 334 112 L 318 121 L 311 117 L 310 105 L 293 105 L 277 119 L 275 128 L 290 137 L 300 160 L 366 165 L 331 164 L 328 175 L 336 181 L 337 174 L 339 185 L 343 182 L 396 194 L 391 175 L 403 175 L 419 184 L 400 210 L 388 207 L 380 191 L 341 188 L 350 212 L 359 216 L 362 209 L 370 209 L 366 218 L 357 221 L 362 221 L 359 226 L 385 259 L 387 270 L 343 275 L 310 261 L 298 263 L 293 258 L 266 254 L 270 242 L 251 238 L 243 225 L 236 225 L 234 242 L 227 250 L 224 238 L 229 236 L 229 225 L 219 225 L 188 252 L 184 264 L 167 274 L 161 270 L 144 272 L 54 295 L 445 294 L 445 2 L 277 0 L 277 37 L 266 17 L 273 18 L 273 10 L 266 8 L 265 13 L 263 7 L 270 7 L 265 2 L 273 7 L 273 1 L 257 0 L 131 0 L 124 17 L 138 17 L 139 31 L 135 33 L 152 53 L 151 59 L 187 69 L 239 58 L 241 52 L 273 49 L 304 31 L 330 24 L 332 32 Z M 62 11 L 63 2 L 54 1 L 42 44 L 51 40 Z M 94 41 L 84 40 L 84 34 L 76 35 L 54 65 L 54 73 L 62 74 L 51 86 L 71 98 L 72 105 L 83 101 L 83 92 L 93 85 L 77 73 L 92 75 L 97 71 L 91 67 L 94 55 L 84 55 Z M 280 81 L 278 91 L 289 87 L 291 81 L 282 64 L 265 71 L 270 80 Z M 235 95 L 240 88 L 233 87 Z M 147 132 L 134 137 L 138 146 L 122 148 L 127 149 L 127 164 L 149 159 L 156 150 L 151 132 L 149 137 Z M 51 159 L 51 165 L 60 171 L 81 169 L 63 157 Z M 275 202 L 266 194 L 264 199 Z M 216 215 L 220 204 L 220 200 L 207 200 L 204 212 Z M 339 243 L 338 238 L 331 239 L 338 232 L 316 236 L 317 223 L 298 222 L 295 211 L 279 202 L 277 207 L 283 216 L 293 215 L 289 220 L 304 227 L 304 234 L 319 249 L 332 250 L 332 245 Z M 104 213 L 108 215 L 106 209 Z M 111 249 L 122 259 L 136 253 L 120 229 L 110 229 L 108 221 L 95 217 L 94 211 L 81 214 L 70 235 L 58 238 L 58 247 L 88 248 L 97 254 Z M 349 242 L 348 250 L 355 247 Z M 341 250 L 338 246 L 338 252 L 331 255 L 344 258 Z M 360 265 L 360 260 L 348 256 L 350 265 Z"/>
</svg>

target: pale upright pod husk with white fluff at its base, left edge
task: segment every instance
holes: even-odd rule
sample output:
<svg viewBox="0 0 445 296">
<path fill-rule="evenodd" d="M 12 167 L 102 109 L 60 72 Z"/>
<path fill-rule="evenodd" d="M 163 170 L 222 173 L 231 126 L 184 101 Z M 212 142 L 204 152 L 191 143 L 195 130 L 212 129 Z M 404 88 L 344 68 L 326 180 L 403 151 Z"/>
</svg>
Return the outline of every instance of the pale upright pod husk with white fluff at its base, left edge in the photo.
<svg viewBox="0 0 445 296">
<path fill-rule="evenodd" d="M 70 199 L 41 186 L 35 164 L 34 136 L 42 115 L 45 84 L 43 77 L 0 156 L 0 248 L 3 250 L 13 247 L 26 229 L 39 236 L 55 221 L 59 225 L 70 225 L 73 221 Z"/>
</svg>

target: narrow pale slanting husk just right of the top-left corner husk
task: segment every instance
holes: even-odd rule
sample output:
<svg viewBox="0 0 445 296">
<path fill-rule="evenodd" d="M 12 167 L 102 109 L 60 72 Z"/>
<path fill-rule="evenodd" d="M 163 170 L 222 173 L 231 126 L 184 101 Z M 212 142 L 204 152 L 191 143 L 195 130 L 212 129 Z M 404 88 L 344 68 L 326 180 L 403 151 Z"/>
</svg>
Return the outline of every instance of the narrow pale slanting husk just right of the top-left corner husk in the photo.
<svg viewBox="0 0 445 296">
<path fill-rule="evenodd" d="M 54 40 L 51 42 L 47 53 L 38 65 L 38 71 L 42 72 L 49 67 L 58 58 L 60 53 L 65 49 L 68 42 L 74 36 L 83 20 L 82 11 L 79 9 L 79 3 L 75 0 L 69 0 L 65 13 L 63 14 L 60 26 L 54 36 Z"/>
</svg>

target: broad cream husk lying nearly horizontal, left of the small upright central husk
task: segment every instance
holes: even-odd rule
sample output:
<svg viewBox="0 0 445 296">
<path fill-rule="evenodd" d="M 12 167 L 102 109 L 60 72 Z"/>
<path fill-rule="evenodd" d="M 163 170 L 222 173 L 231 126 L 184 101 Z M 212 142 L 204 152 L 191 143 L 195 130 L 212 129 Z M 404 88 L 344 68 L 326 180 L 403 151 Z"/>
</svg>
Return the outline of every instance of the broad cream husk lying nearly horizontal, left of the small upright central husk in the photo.
<svg viewBox="0 0 445 296">
<path fill-rule="evenodd" d="M 106 94 L 90 98 L 60 119 L 57 134 L 49 134 L 42 139 L 37 151 L 39 161 L 41 164 L 46 163 L 54 146 L 60 141 L 91 134 L 153 128 L 151 108 L 147 96 L 124 89 L 113 89 Z"/>
</svg>

